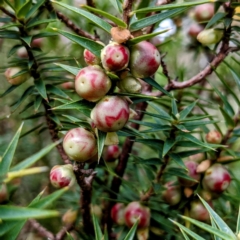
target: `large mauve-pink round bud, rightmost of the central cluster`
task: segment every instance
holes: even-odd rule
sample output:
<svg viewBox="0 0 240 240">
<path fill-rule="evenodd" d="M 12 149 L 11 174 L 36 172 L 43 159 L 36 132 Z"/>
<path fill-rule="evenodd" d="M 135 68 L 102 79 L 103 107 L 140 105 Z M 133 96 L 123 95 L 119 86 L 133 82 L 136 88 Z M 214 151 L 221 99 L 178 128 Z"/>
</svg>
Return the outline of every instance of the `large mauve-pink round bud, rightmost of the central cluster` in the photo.
<svg viewBox="0 0 240 240">
<path fill-rule="evenodd" d="M 132 47 L 130 70 L 134 77 L 150 77 L 158 70 L 159 66 L 160 53 L 153 44 L 143 41 Z"/>
</svg>

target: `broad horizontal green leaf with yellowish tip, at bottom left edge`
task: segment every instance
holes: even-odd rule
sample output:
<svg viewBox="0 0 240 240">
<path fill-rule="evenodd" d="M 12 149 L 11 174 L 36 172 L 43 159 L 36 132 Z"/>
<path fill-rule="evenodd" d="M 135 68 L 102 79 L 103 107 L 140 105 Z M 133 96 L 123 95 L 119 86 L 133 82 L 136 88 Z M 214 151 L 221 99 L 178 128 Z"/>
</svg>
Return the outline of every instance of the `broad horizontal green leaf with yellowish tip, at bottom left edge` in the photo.
<svg viewBox="0 0 240 240">
<path fill-rule="evenodd" d="M 28 207 L 0 206 L 0 219 L 17 220 L 27 218 L 49 218 L 57 217 L 59 213 L 53 210 L 42 210 Z"/>
</svg>

